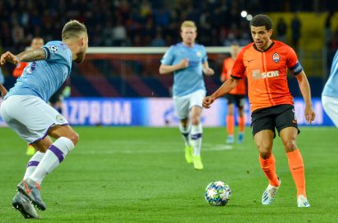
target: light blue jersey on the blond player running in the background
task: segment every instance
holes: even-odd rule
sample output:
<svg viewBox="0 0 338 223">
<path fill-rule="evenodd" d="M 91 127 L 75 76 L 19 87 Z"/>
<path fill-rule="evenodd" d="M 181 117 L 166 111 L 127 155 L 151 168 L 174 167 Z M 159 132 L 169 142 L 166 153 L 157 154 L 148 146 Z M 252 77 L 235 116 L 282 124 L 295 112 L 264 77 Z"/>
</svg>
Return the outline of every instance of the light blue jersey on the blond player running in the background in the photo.
<svg viewBox="0 0 338 223">
<path fill-rule="evenodd" d="M 189 59 L 189 67 L 173 72 L 173 97 L 181 97 L 198 90 L 205 91 L 202 64 L 207 60 L 205 47 L 194 44 L 188 47 L 185 44 L 172 45 L 161 63 L 165 65 L 175 65 L 183 59 Z"/>
</svg>

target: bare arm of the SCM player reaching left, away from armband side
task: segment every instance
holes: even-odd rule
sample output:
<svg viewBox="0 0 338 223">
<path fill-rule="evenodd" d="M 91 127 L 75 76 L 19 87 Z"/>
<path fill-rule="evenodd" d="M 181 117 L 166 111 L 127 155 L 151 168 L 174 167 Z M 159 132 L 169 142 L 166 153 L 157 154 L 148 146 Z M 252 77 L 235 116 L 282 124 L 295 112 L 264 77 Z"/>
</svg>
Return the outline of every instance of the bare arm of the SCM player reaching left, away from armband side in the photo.
<svg viewBox="0 0 338 223">
<path fill-rule="evenodd" d="M 205 99 L 202 102 L 203 108 L 210 108 L 214 100 L 220 98 L 221 96 L 227 94 L 232 89 L 234 89 L 239 84 L 239 81 L 240 79 L 230 77 L 226 82 L 221 84 L 221 87 L 217 89 L 216 92 L 213 92 L 212 95 L 205 97 Z"/>
</svg>

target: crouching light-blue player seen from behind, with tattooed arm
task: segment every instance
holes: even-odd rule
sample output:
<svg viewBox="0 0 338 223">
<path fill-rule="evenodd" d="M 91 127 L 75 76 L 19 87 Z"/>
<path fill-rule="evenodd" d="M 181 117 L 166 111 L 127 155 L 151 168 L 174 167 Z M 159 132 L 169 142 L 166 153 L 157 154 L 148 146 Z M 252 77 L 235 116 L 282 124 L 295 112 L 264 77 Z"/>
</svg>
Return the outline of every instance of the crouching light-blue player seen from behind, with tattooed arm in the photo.
<svg viewBox="0 0 338 223">
<path fill-rule="evenodd" d="M 1 55 L 1 65 L 29 62 L 9 92 L 3 86 L 0 88 L 4 95 L 0 108 L 4 122 L 37 151 L 28 162 L 18 185 L 19 193 L 12 203 L 25 218 L 38 218 L 29 201 L 36 208 L 45 210 L 40 195 L 41 182 L 47 173 L 60 165 L 78 141 L 76 131 L 47 102 L 70 75 L 72 61 L 82 62 L 87 49 L 87 29 L 77 20 L 71 20 L 62 29 L 62 42 L 51 41 L 40 49 L 18 55 L 11 52 Z"/>
</svg>

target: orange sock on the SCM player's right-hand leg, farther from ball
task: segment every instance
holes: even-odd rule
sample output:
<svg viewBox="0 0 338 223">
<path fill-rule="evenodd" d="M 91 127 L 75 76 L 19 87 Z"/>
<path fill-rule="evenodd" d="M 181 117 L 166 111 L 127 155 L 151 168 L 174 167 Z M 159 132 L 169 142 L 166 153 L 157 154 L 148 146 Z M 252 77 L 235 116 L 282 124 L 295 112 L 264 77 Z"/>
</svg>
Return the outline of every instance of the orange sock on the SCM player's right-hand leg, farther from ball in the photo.
<svg viewBox="0 0 338 223">
<path fill-rule="evenodd" d="M 294 184 L 297 187 L 297 196 L 304 195 L 305 193 L 305 173 L 304 173 L 304 163 L 302 162 L 302 154 L 299 149 L 294 150 L 293 152 L 286 153 L 289 168 L 291 174 L 294 178 Z"/>
</svg>

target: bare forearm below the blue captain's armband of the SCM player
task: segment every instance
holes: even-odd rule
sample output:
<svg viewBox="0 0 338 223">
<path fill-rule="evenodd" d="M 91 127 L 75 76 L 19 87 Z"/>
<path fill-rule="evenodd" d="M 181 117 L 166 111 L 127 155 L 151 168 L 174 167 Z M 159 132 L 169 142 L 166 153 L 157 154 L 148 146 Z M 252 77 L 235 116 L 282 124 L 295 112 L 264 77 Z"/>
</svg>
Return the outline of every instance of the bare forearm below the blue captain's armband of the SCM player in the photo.
<svg viewBox="0 0 338 223">
<path fill-rule="evenodd" d="M 308 123 L 311 123 L 315 120 L 316 114 L 312 109 L 312 102 L 311 102 L 311 91 L 310 91 L 310 84 L 308 78 L 306 77 L 304 71 L 299 73 L 297 76 L 297 81 L 299 84 L 299 88 L 302 92 L 302 98 L 305 102 L 305 118 Z"/>
</svg>

